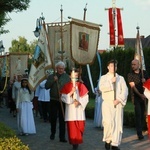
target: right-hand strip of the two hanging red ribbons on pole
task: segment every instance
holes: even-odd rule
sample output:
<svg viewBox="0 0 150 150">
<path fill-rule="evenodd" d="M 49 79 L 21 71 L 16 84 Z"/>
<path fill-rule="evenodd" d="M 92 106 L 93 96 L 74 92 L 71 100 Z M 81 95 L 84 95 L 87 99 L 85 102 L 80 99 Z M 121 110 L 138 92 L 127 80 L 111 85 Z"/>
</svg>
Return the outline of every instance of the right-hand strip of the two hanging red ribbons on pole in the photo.
<svg viewBox="0 0 150 150">
<path fill-rule="evenodd" d="M 118 27 L 118 47 L 124 46 L 124 38 L 123 38 L 123 29 L 122 29 L 122 20 L 120 9 L 117 9 L 117 27 Z"/>
</svg>

